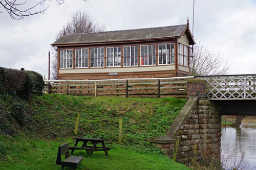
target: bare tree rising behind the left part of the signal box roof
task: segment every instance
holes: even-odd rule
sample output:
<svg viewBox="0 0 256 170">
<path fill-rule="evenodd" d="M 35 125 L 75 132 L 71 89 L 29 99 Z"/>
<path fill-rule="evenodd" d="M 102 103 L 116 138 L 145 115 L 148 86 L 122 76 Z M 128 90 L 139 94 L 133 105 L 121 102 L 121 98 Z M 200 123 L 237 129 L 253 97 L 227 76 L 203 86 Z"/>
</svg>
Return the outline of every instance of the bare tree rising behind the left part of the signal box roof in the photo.
<svg viewBox="0 0 256 170">
<path fill-rule="evenodd" d="M 100 25 L 95 19 L 88 13 L 84 11 L 76 11 L 72 16 L 71 20 L 67 22 L 66 25 L 56 34 L 56 40 L 66 34 L 81 34 L 81 33 L 95 33 L 103 32 L 105 30 L 104 25 Z M 52 79 L 57 79 L 58 72 L 58 57 L 57 49 L 52 48 Z"/>
</svg>

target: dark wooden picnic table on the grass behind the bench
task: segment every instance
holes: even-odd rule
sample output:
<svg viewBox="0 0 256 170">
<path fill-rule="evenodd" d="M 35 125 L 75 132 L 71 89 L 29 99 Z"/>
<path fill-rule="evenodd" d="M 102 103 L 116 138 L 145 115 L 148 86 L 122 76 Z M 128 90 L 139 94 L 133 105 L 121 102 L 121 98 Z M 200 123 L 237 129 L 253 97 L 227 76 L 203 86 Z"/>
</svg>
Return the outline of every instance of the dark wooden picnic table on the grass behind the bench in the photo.
<svg viewBox="0 0 256 170">
<path fill-rule="evenodd" d="M 74 153 L 75 150 L 86 150 L 86 152 L 90 155 L 93 154 L 94 151 L 104 151 L 106 156 L 108 156 L 108 152 L 110 149 L 114 149 L 113 147 L 105 147 L 104 141 L 106 139 L 95 139 L 95 138 L 81 138 L 81 137 L 74 137 L 73 139 L 76 139 L 76 143 L 74 147 L 69 147 L 71 151 L 71 154 Z M 91 141 L 92 146 L 88 146 L 87 143 Z M 77 147 L 78 142 L 83 142 L 81 147 Z M 97 144 L 101 143 L 102 147 L 98 147 Z"/>
</svg>

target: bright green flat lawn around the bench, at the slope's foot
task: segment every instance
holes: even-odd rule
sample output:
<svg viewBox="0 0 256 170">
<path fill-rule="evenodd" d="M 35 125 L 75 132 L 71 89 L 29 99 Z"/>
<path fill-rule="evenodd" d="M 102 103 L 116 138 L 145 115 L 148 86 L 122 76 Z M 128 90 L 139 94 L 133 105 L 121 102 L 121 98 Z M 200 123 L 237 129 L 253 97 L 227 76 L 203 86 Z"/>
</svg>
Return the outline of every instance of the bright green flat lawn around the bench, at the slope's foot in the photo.
<svg viewBox="0 0 256 170">
<path fill-rule="evenodd" d="M 7 143 L 7 139 L 3 140 Z M 6 154 L 0 157 L 0 169 L 60 169 L 61 166 L 55 164 L 58 145 L 65 142 L 74 145 L 71 138 L 63 142 L 12 140 L 6 146 Z M 92 155 L 86 151 L 75 151 L 73 155 L 84 157 L 78 169 L 189 169 L 166 156 L 150 151 L 133 151 L 117 144 L 114 147 L 115 149 L 108 151 L 109 156 L 103 151 L 94 152 Z"/>
</svg>

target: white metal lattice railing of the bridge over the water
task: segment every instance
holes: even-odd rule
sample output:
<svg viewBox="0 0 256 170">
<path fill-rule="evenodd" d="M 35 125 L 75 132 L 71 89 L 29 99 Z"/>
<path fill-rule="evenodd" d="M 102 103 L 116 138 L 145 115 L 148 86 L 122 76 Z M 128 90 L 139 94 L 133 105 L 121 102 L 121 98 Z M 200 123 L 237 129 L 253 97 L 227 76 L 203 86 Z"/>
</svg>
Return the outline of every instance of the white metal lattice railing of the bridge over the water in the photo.
<svg viewBox="0 0 256 170">
<path fill-rule="evenodd" d="M 200 76 L 210 100 L 256 99 L 256 75 Z"/>
</svg>

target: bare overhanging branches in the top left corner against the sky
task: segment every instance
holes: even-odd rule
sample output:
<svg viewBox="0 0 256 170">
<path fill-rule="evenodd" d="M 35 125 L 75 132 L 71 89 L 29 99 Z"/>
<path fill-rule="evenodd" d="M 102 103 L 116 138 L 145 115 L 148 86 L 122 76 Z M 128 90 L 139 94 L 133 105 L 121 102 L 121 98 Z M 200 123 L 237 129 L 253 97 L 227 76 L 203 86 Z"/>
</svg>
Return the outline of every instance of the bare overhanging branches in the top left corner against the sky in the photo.
<svg viewBox="0 0 256 170">
<path fill-rule="evenodd" d="M 87 1 L 87 0 L 82 0 Z M 31 1 L 30 1 L 31 2 Z M 46 2 L 49 2 L 48 4 Z M 44 13 L 51 5 L 52 0 L 33 0 L 34 5 L 29 6 L 28 0 L 0 0 L 0 13 L 4 8 L 12 19 L 23 19 L 24 17 Z M 61 5 L 65 0 L 55 0 Z M 46 6 L 44 6 L 47 4 Z M 40 7 L 40 9 L 38 9 Z"/>
</svg>

